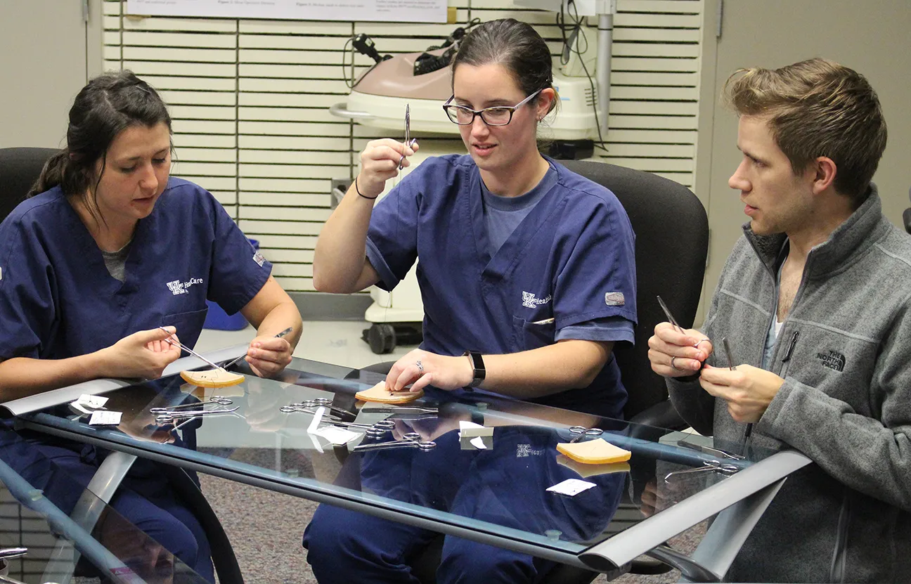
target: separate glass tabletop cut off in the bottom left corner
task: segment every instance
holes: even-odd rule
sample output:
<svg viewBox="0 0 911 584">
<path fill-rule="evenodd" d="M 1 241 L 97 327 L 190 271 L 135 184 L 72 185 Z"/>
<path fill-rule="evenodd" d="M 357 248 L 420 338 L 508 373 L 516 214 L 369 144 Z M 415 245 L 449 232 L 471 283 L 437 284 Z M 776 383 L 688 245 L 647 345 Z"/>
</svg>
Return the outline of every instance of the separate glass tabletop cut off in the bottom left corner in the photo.
<svg viewBox="0 0 911 584">
<path fill-rule="evenodd" d="M 19 466 L 26 451 L 32 456 L 18 470 L 32 482 L 7 464 Z M 82 492 L 79 508 L 91 513 L 68 517 L 46 497 L 47 487 Z M 0 582 L 63 583 L 73 576 L 125 584 L 205 582 L 2 425 L 0 508 Z"/>
</svg>

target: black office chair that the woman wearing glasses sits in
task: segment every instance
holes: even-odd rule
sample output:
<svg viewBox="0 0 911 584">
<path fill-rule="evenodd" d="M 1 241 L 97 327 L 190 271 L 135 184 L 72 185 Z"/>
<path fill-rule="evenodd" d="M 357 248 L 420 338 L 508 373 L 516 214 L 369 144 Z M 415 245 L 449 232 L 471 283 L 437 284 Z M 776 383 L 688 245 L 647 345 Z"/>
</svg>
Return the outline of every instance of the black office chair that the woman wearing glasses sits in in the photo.
<svg viewBox="0 0 911 584">
<path fill-rule="evenodd" d="M 614 346 L 620 376 L 629 393 L 624 415 L 641 425 L 681 429 L 686 425 L 670 405 L 664 378 L 651 370 L 649 338 L 655 325 L 667 320 L 656 299 L 658 295 L 681 326 L 692 326 L 709 251 L 705 208 L 686 187 L 650 172 L 586 160 L 560 163 L 611 190 L 627 211 L 636 233 L 636 344 Z M 392 364 L 384 362 L 364 370 L 384 374 Z M 639 435 L 649 429 L 637 427 L 630 432 Z M 620 522 L 635 523 L 640 518 L 639 506 L 627 500 L 620 504 L 613 525 L 616 528 Z M 424 584 L 435 582 L 442 546 L 443 538 L 435 538 L 412 562 L 415 577 Z M 651 558 L 638 558 L 630 566 L 630 572 L 635 574 L 669 570 L 670 566 Z M 548 574 L 548 584 L 588 584 L 597 576 L 596 572 L 561 564 Z"/>
</svg>

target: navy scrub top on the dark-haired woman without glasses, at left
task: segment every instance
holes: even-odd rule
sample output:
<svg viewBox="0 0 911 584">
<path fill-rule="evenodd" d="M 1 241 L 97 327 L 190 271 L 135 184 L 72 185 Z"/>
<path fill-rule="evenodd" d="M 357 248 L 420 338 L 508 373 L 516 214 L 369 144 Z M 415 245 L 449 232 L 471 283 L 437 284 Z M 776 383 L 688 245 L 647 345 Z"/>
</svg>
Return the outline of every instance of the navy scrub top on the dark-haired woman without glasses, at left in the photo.
<svg viewBox="0 0 911 584">
<path fill-rule="evenodd" d="M 93 353 L 163 325 L 192 347 L 206 300 L 238 312 L 271 263 L 209 191 L 171 178 L 138 222 L 125 272 L 125 282 L 107 272 L 59 187 L 20 204 L 0 223 L 0 359 Z"/>
</svg>

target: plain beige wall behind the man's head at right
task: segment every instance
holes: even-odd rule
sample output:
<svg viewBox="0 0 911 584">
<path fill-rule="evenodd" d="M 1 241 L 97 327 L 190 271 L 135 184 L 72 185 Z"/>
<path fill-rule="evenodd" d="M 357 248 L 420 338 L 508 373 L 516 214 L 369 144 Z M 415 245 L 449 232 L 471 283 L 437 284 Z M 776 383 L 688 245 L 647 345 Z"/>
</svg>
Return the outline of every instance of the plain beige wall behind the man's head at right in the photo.
<svg viewBox="0 0 911 584">
<path fill-rule="evenodd" d="M 875 175 L 885 216 L 902 225 L 909 205 L 911 165 L 911 3 L 907 0 L 707 0 L 703 26 L 696 193 L 709 210 L 711 251 L 703 308 L 747 219 L 727 179 L 741 159 L 737 119 L 718 104 L 724 80 L 738 67 L 782 67 L 825 56 L 870 80 L 883 106 L 888 145 Z"/>
</svg>

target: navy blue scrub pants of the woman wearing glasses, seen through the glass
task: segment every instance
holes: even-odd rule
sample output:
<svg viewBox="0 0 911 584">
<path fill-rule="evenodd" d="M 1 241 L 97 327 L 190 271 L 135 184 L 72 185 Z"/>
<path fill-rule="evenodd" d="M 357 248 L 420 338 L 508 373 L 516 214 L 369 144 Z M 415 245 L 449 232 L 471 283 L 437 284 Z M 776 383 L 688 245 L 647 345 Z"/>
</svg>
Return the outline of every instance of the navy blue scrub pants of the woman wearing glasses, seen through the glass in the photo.
<svg viewBox="0 0 911 584">
<path fill-rule="evenodd" d="M 351 456 L 361 464 L 361 487 L 384 497 L 473 517 L 507 528 L 585 540 L 607 526 L 619 505 L 623 474 L 592 477 L 598 487 L 576 497 L 546 491 L 578 475 L 556 462 L 553 432 L 497 428 L 493 450 L 461 450 L 457 433 L 435 439 L 431 452 L 391 450 Z M 339 507 L 321 505 L 303 536 L 307 561 L 320 584 L 418 584 L 410 561 L 438 537 Z M 555 562 L 446 536 L 439 584 L 519 584 L 546 579 Z"/>
</svg>

